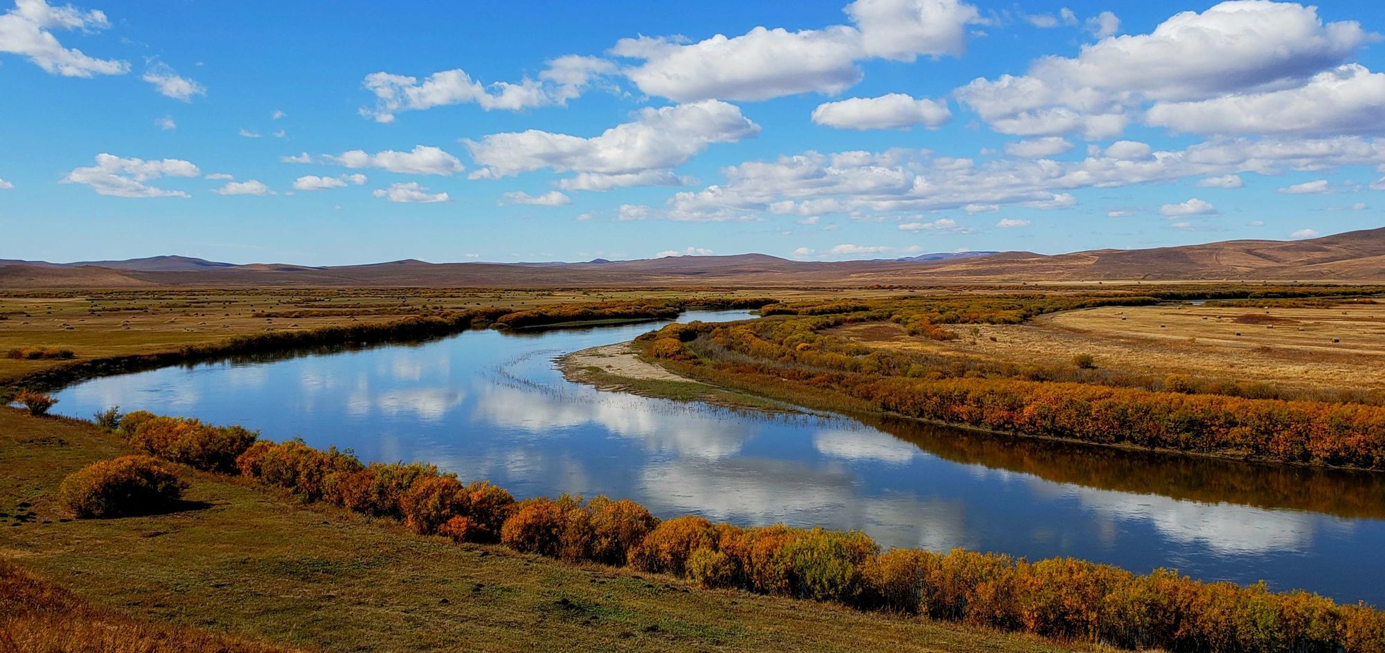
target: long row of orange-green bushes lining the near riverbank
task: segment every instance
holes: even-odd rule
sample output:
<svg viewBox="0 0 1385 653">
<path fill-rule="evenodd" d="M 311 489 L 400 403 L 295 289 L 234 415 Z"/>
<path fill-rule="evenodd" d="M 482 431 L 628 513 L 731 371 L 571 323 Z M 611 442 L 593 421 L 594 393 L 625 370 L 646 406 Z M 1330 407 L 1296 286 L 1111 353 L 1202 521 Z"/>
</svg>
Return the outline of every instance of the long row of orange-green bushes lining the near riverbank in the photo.
<svg viewBox="0 0 1385 653">
<path fill-rule="evenodd" d="M 140 429 L 159 418 L 132 414 L 126 419 Z M 783 524 L 742 528 L 699 516 L 661 523 L 638 504 L 605 497 L 515 504 L 485 481 L 464 484 L 422 465 L 363 466 L 350 454 L 319 451 L 296 440 L 258 441 L 237 466 L 248 477 L 305 499 L 399 516 L 416 533 L 499 540 L 522 552 L 629 564 L 712 588 L 917 613 L 1127 649 L 1385 653 L 1385 613 L 1339 606 L 1307 592 L 1276 594 L 1263 584 L 1198 582 L 1168 570 L 1136 576 L 1065 558 L 1030 563 L 963 549 L 879 552 L 857 531 Z"/>
</svg>

